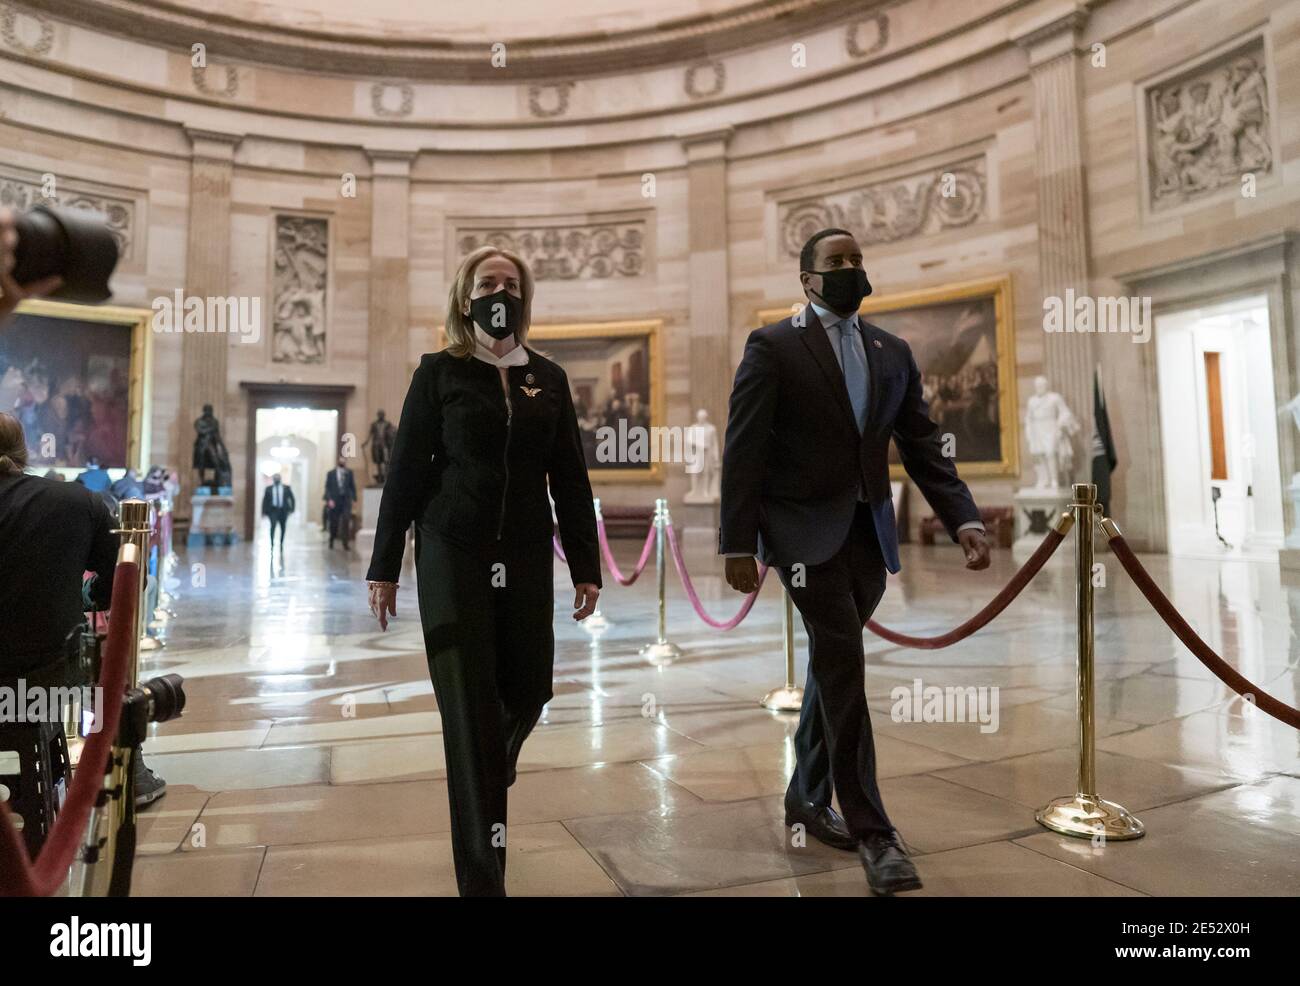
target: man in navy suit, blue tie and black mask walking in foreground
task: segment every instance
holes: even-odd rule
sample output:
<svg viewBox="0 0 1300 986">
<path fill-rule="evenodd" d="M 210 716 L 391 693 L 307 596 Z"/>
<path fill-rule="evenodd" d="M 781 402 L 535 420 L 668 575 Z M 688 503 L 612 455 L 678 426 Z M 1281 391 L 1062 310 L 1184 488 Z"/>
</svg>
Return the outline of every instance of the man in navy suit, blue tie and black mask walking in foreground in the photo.
<svg viewBox="0 0 1300 986">
<path fill-rule="evenodd" d="M 967 568 L 988 567 L 988 542 L 942 454 L 911 350 L 858 317 L 871 285 L 853 235 L 814 234 L 800 254 L 800 281 L 809 304 L 750 333 L 736 369 L 718 550 L 738 592 L 758 585 L 755 555 L 776 567 L 809 633 L 786 825 L 857 848 L 874 892 L 916 890 L 916 868 L 876 786 L 863 676 L 862 627 L 885 571 L 898 571 L 890 438 Z"/>
</svg>

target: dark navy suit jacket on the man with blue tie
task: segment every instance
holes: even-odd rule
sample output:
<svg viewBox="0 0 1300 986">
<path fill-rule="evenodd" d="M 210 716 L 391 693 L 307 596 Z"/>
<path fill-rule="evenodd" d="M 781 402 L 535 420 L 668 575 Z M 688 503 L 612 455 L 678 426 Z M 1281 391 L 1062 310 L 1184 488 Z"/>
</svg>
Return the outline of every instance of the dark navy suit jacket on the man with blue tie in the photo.
<svg viewBox="0 0 1300 986">
<path fill-rule="evenodd" d="M 864 320 L 870 393 L 858 434 L 844 371 L 811 306 L 750 333 L 736 369 L 723 449 L 718 550 L 766 565 L 818 565 L 838 550 L 864 490 L 885 567 L 898 571 L 889 440 L 956 540 L 979 510 L 920 392 L 911 349 Z"/>
</svg>

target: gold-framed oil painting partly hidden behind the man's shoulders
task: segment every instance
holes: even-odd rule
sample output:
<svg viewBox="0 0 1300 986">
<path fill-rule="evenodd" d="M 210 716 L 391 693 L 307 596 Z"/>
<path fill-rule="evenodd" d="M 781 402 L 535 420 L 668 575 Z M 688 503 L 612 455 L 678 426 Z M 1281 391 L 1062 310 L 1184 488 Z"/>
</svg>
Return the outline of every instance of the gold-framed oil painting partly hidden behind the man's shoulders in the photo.
<svg viewBox="0 0 1300 986">
<path fill-rule="evenodd" d="M 759 324 L 790 308 L 758 312 Z M 989 277 L 900 294 L 872 294 L 862 317 L 911 346 L 930 415 L 953 436 L 962 476 L 1019 473 L 1011 278 Z M 889 473 L 904 476 L 890 445 Z"/>
</svg>

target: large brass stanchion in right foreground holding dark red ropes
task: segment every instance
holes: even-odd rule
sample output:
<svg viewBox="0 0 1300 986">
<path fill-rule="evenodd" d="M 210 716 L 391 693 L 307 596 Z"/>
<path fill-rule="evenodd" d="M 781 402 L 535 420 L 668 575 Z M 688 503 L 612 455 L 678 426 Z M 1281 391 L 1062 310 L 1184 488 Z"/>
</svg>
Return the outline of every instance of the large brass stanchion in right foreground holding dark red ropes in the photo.
<svg viewBox="0 0 1300 986">
<path fill-rule="evenodd" d="M 1092 636 L 1092 526 L 1097 510 L 1097 488 L 1091 483 L 1075 483 L 1072 489 L 1070 511 L 1075 528 L 1074 578 L 1079 639 L 1079 784 L 1076 793 L 1048 801 L 1034 817 L 1052 831 L 1078 839 L 1139 839 L 1145 834 L 1145 826 L 1123 805 L 1097 796 Z"/>
</svg>

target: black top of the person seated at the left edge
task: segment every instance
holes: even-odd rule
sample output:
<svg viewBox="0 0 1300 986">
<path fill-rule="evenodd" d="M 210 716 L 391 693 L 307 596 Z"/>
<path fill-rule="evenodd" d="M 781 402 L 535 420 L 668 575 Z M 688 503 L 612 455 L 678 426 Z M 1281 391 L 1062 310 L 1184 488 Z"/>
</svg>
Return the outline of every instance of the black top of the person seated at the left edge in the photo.
<svg viewBox="0 0 1300 986">
<path fill-rule="evenodd" d="M 91 600 L 108 606 L 117 565 L 113 519 L 79 483 L 0 476 L 0 678 L 20 676 L 62 654 L 82 622 L 82 575 L 96 574 Z"/>
</svg>

